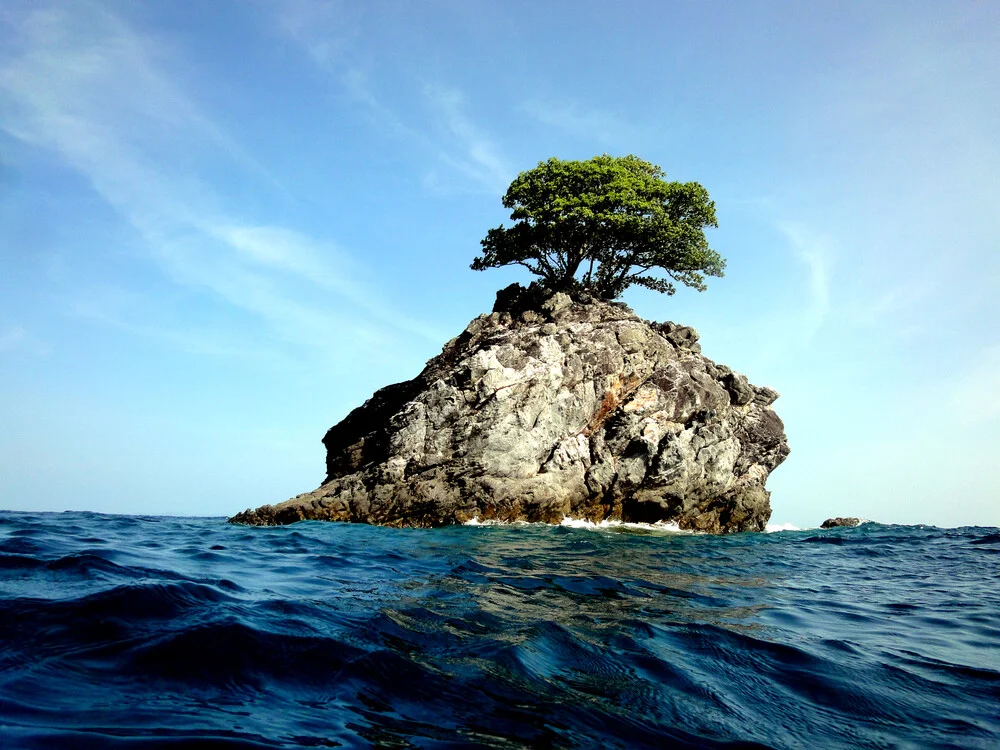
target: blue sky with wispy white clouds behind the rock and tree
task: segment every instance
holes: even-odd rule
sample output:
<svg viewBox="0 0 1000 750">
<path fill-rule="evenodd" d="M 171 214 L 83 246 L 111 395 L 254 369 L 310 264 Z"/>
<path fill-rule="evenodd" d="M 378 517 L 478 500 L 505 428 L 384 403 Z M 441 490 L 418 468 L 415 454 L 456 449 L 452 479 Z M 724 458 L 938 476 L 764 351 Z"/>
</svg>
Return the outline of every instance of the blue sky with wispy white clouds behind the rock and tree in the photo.
<svg viewBox="0 0 1000 750">
<path fill-rule="evenodd" d="M 0 507 L 232 514 L 526 271 L 510 180 L 634 153 L 726 276 L 632 291 L 782 396 L 772 521 L 1000 524 L 1000 5 L 6 0 Z"/>
</svg>

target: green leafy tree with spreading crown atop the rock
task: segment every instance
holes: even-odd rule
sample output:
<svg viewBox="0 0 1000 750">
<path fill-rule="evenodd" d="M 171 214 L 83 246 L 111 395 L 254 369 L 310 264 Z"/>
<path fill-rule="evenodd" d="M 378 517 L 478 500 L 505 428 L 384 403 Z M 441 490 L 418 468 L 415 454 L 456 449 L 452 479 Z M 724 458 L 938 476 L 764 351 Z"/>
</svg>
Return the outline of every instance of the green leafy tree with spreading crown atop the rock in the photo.
<svg viewBox="0 0 1000 750">
<path fill-rule="evenodd" d="M 490 229 L 472 268 L 521 265 L 551 289 L 615 299 L 633 284 L 673 294 L 705 290 L 726 261 L 708 246 L 715 204 L 697 182 L 668 182 L 636 156 L 549 159 L 510 184 L 510 228 Z M 647 275 L 662 271 L 666 277 Z M 577 274 L 582 274 L 579 278 Z"/>
</svg>

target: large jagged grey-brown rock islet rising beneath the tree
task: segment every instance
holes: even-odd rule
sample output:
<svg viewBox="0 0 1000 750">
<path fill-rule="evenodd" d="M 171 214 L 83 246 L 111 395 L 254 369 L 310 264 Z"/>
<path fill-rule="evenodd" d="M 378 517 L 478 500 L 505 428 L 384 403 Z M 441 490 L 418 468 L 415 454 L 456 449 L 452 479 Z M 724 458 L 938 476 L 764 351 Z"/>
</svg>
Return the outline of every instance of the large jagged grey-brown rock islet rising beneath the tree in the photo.
<svg viewBox="0 0 1000 750">
<path fill-rule="evenodd" d="M 517 285 L 413 380 L 323 439 L 317 490 L 237 523 L 441 526 L 473 518 L 764 529 L 788 455 L 778 394 L 700 354 L 692 328 Z"/>
</svg>

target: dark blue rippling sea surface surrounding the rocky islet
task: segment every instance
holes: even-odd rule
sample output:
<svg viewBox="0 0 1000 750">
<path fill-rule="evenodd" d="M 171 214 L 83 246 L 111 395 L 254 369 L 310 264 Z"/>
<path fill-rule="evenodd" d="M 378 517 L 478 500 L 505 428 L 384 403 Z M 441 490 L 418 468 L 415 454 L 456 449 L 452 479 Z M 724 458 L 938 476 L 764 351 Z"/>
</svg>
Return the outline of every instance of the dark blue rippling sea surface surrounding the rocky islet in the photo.
<svg viewBox="0 0 1000 750">
<path fill-rule="evenodd" d="M 0 512 L 0 747 L 1000 747 L 1000 529 Z"/>
</svg>

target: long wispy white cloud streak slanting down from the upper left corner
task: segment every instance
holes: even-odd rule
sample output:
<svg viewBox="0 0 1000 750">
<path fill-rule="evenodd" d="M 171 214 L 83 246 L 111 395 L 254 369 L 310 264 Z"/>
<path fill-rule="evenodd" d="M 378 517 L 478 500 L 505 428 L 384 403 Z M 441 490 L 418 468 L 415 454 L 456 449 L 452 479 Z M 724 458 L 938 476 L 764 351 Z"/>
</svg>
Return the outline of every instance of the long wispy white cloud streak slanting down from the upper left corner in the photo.
<svg viewBox="0 0 1000 750">
<path fill-rule="evenodd" d="M 120 19 L 73 3 L 33 9 L 14 23 L 22 49 L 0 67 L 0 97 L 10 113 L 3 129 L 85 175 L 172 281 L 206 288 L 307 346 L 333 343 L 331 331 L 384 339 L 386 327 L 437 338 L 380 303 L 351 275 L 356 264 L 329 243 L 233 220 L 199 178 L 198 158 L 221 155 L 257 178 L 260 169 L 153 64 L 149 41 Z M 371 320 L 300 301 L 323 299 L 311 289 L 360 304 Z"/>
</svg>

